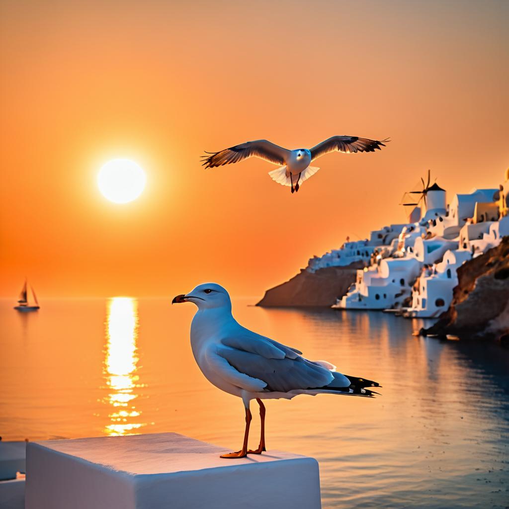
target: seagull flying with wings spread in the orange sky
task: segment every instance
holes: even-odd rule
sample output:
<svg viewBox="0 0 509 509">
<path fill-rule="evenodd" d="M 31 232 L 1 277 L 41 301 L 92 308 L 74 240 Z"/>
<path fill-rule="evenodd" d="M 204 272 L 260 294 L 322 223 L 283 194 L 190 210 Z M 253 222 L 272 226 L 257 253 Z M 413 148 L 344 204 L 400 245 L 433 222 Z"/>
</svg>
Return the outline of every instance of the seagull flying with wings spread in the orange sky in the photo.
<svg viewBox="0 0 509 509">
<path fill-rule="evenodd" d="M 375 152 L 375 149 L 381 150 L 380 147 L 385 147 L 385 143 L 389 141 L 388 138 L 378 142 L 374 139 L 357 136 L 332 136 L 310 150 L 288 150 L 268 142 L 266 139 L 258 139 L 255 142 L 241 143 L 220 152 L 206 152 L 207 155 L 202 156 L 202 166 L 214 168 L 239 162 L 248 157 L 259 157 L 279 166 L 269 172 L 269 175 L 278 184 L 290 186 L 293 193 L 299 190 L 299 186 L 304 180 L 318 172 L 320 168 L 309 166 L 309 164 L 324 154 L 334 151 L 344 154 Z"/>
</svg>

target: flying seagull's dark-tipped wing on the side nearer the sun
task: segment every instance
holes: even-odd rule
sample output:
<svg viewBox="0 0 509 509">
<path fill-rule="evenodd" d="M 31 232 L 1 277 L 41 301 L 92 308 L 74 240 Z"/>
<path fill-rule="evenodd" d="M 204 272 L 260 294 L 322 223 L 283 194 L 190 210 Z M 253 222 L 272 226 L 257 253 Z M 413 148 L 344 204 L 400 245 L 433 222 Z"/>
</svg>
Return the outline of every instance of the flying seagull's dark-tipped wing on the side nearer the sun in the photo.
<svg viewBox="0 0 509 509">
<path fill-rule="evenodd" d="M 207 152 L 207 154 L 202 156 L 202 166 L 205 166 L 205 168 L 214 168 L 215 166 L 239 162 L 248 157 L 259 157 L 265 161 L 282 166 L 290 155 L 290 150 L 268 142 L 266 139 L 258 139 L 254 142 L 241 143 L 220 152 Z"/>
</svg>

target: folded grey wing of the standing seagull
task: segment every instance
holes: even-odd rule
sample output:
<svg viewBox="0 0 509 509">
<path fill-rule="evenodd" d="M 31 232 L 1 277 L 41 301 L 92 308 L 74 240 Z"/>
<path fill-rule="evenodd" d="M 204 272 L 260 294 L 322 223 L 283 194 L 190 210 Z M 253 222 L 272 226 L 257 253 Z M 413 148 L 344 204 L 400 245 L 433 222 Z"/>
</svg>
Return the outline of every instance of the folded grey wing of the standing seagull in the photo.
<svg viewBox="0 0 509 509">
<path fill-rule="evenodd" d="M 239 328 L 238 331 L 231 331 L 223 337 L 221 345 L 217 347 L 216 355 L 226 360 L 235 369 L 235 378 L 238 379 L 238 375 L 244 375 L 253 380 L 261 380 L 266 384 L 264 387 L 266 391 L 288 392 L 297 389 L 321 388 L 333 380 L 338 380 L 338 387 L 350 385 L 350 381 L 343 375 L 332 373 L 322 364 L 301 357 L 294 349 L 273 342 L 270 338 L 251 332 L 244 327 Z M 231 372 L 224 374 L 232 380 Z M 251 390 L 243 384 L 236 383 L 236 385 L 245 390 Z"/>
</svg>

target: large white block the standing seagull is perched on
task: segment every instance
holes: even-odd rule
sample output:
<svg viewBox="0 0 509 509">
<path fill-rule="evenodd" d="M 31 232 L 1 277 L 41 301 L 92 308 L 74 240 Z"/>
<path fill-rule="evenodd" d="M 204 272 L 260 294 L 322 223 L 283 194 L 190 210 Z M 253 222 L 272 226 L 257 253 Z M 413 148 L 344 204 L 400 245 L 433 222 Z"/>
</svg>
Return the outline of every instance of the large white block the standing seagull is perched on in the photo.
<svg viewBox="0 0 509 509">
<path fill-rule="evenodd" d="M 319 509 L 313 458 L 240 460 L 176 433 L 30 442 L 26 509 Z"/>
</svg>

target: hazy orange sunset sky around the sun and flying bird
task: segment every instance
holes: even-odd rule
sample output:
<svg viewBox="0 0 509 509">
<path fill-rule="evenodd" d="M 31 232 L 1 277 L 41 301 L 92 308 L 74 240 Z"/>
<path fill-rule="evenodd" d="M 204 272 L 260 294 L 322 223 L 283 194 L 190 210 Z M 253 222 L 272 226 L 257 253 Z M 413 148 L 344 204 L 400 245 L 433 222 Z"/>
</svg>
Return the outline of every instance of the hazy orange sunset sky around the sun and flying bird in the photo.
<svg viewBox="0 0 509 509">
<path fill-rule="evenodd" d="M 428 168 L 449 191 L 509 165 L 506 2 L 0 4 L 0 295 L 166 295 L 215 280 L 263 291 L 347 235 L 403 222 Z M 297 195 L 258 159 L 205 171 L 203 150 L 268 138 L 329 154 Z M 98 192 L 108 159 L 145 193 Z"/>
</svg>

